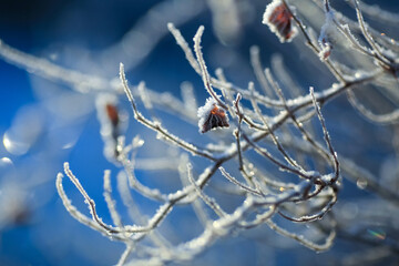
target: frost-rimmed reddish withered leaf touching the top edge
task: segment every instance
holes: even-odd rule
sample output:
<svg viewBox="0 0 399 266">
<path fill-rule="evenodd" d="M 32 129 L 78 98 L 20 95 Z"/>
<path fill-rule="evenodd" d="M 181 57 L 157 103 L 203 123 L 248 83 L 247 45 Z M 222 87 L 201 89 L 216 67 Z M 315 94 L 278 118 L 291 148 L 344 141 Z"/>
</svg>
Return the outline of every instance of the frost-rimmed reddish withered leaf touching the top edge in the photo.
<svg viewBox="0 0 399 266">
<path fill-rule="evenodd" d="M 298 33 L 297 28 L 293 25 L 293 14 L 282 0 L 274 0 L 267 4 L 262 23 L 267 24 L 280 42 L 290 42 Z"/>
</svg>

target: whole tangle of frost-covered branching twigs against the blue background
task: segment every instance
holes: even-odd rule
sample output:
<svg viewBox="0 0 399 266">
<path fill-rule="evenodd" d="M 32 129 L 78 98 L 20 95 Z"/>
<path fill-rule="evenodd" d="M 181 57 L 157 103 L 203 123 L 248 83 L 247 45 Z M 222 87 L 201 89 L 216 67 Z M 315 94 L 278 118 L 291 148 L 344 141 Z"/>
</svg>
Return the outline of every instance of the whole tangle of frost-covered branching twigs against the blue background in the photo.
<svg viewBox="0 0 399 266">
<path fill-rule="evenodd" d="M 328 0 L 304 2 L 319 8 L 326 18 L 321 28 L 313 28 L 313 20 L 305 17 L 295 1 L 288 3 L 286 0 L 274 0 L 264 17 L 264 23 L 273 27 L 282 42 L 293 39 L 294 43 L 305 43 L 313 53 L 310 57 L 318 60 L 336 79 L 337 83 L 330 88 L 316 88 L 315 91 L 310 86 L 309 90 L 306 89 L 309 93 L 303 94 L 299 94 L 303 90 L 297 88 L 280 63 L 275 63 L 273 69 L 264 69 L 260 49 L 257 47 L 250 49 L 256 83 L 248 81 L 247 88 L 241 88 L 229 82 L 222 69 L 213 76 L 208 72 L 206 57 L 201 47 L 204 27 L 198 28 L 191 49 L 180 30 L 173 23 L 167 24 L 214 104 L 208 114 L 201 113 L 208 115 L 203 121 L 212 123 L 212 132 L 205 133 L 206 135 L 197 133 L 198 137 L 190 142 L 180 133 L 171 133 L 173 130 L 155 114 L 157 111 L 171 112 L 195 125 L 198 119 L 195 114 L 196 101 L 188 84 L 182 86 L 182 101 L 172 95 L 156 93 L 143 82 L 132 89 L 122 63 L 120 83 L 116 83 L 63 70 L 61 66 L 53 68 L 44 60 L 23 54 L 4 43 L 0 44 L 1 55 L 8 60 L 28 69 L 35 69 L 47 78 L 65 80 L 78 90 L 82 86 L 89 90 L 106 90 L 106 86 L 111 86 L 115 95 L 123 91 L 132 106 L 134 120 L 153 131 L 156 139 L 172 147 L 178 147 L 178 154 L 175 154 L 171 162 L 154 158 L 146 163 L 136 157 L 137 151 L 145 146 L 139 135 L 126 144 L 127 136 L 121 131 L 112 131 L 113 134 L 109 136 L 103 134 L 103 137 L 112 139 L 112 142 L 109 142 L 114 145 L 112 162 L 121 167 L 116 187 L 134 222 L 129 225 L 117 211 L 121 206 L 113 198 L 113 173 L 104 172 L 104 200 L 112 225 L 102 221 L 94 201 L 68 163 L 64 164 L 64 174 L 84 197 L 91 216 L 72 205 L 62 186 L 63 174 L 58 175 L 57 188 L 66 211 L 84 225 L 126 245 L 119 265 L 162 265 L 167 262 L 190 260 L 222 237 L 264 225 L 316 252 L 329 249 L 337 236 L 361 239 L 361 235 L 346 231 L 342 221 L 331 212 L 339 198 L 342 178 L 355 183 L 365 182 L 369 191 L 398 206 L 397 192 L 379 183 L 378 177 L 367 167 L 347 158 L 335 149 L 335 140 L 331 140 L 328 132 L 329 122 L 325 121 L 321 109 L 337 96 L 346 94 L 350 104 L 368 120 L 380 124 L 396 124 L 399 117 L 397 103 L 391 104 L 395 108 L 388 113 L 376 113 L 376 110 L 361 101 L 362 98 L 358 99 L 358 94 L 365 93 L 362 88 L 380 90 L 383 95 L 398 94 L 399 49 L 397 45 L 387 45 L 387 37 L 368 27 L 357 0 L 350 1 L 357 21 L 351 21 L 336 11 Z M 212 8 L 217 9 L 217 4 L 214 3 Z M 368 16 L 374 14 L 370 7 L 366 10 Z M 216 11 L 213 10 L 213 13 L 219 16 Z M 391 17 L 392 20 L 398 19 L 393 14 Z M 239 29 L 237 27 L 235 31 Z M 296 31 L 300 34 L 294 34 Z M 317 41 L 315 32 L 318 31 L 320 38 Z M 354 61 L 348 63 L 348 59 L 340 54 L 342 51 L 345 54 L 354 53 Z M 259 84 L 259 89 L 256 84 Z M 115 103 L 104 103 L 104 108 L 106 104 Z M 115 116 L 116 106 L 108 106 L 106 110 L 101 123 L 109 123 L 106 129 L 120 126 L 120 119 Z M 231 119 L 229 127 L 226 124 L 219 127 L 218 123 L 226 119 L 226 115 Z M 311 124 L 314 117 L 318 119 L 319 131 Z M 212 141 L 204 145 L 203 141 L 207 136 Z M 202 165 L 207 166 L 196 166 L 198 160 Z M 141 167 L 173 171 L 181 177 L 181 188 L 165 193 L 142 184 L 135 176 L 136 168 Z M 216 187 L 213 181 L 221 178 L 224 178 L 225 183 L 223 187 Z M 208 187 L 216 188 L 218 196 L 228 194 L 238 198 L 238 202 L 233 204 L 233 211 L 232 206 L 225 206 L 217 196 L 212 195 Z M 141 213 L 133 201 L 132 192 L 158 204 L 157 211 L 150 218 Z M 193 207 L 203 231 L 192 239 L 176 244 L 162 234 L 162 224 L 170 213 L 183 205 Z M 287 222 L 306 224 L 307 227 L 288 231 L 284 228 Z M 317 237 L 311 234 L 307 236 L 309 232 Z M 386 243 L 386 246 L 389 250 L 398 252 L 397 243 Z"/>
</svg>

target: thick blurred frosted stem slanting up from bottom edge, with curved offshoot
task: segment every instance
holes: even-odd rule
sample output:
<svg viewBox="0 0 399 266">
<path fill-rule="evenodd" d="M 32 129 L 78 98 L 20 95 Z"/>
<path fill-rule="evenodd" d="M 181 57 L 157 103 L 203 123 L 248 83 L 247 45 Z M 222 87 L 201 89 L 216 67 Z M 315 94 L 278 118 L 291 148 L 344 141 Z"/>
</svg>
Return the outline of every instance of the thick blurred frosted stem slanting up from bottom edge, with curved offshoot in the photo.
<svg viewBox="0 0 399 266">
<path fill-rule="evenodd" d="M 301 235 L 289 233 L 270 221 L 270 217 L 275 214 L 277 205 L 300 195 L 304 191 L 308 190 L 309 185 L 310 183 L 308 181 L 303 181 L 293 190 L 287 190 L 279 195 L 269 195 L 267 197 L 248 196 L 232 214 L 222 215 L 213 223 L 208 223 L 205 231 L 201 235 L 188 242 L 180 244 L 173 248 L 171 253 L 167 254 L 167 256 L 160 252 L 155 252 L 156 259 L 158 259 L 157 262 L 160 264 L 177 262 L 182 259 L 192 259 L 206 247 L 211 246 L 216 239 L 228 235 L 231 232 L 238 228 L 249 229 L 256 226 L 260 226 L 265 223 L 277 233 L 290 237 L 310 249 L 318 252 L 326 250 L 332 245 L 332 239 L 335 237 L 334 231 L 327 236 L 325 244 L 317 244 Z M 266 211 L 258 213 L 260 208 L 266 208 Z M 254 219 L 246 221 L 250 213 L 257 214 Z"/>
</svg>

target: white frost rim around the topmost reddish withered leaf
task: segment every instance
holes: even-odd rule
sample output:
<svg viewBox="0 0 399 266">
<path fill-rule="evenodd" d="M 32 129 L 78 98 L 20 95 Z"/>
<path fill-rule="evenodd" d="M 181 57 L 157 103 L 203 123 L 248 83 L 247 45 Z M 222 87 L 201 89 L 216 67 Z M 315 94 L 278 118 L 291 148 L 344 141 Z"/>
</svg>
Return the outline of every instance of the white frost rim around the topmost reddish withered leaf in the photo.
<svg viewBox="0 0 399 266">
<path fill-rule="evenodd" d="M 286 18 L 287 21 L 283 21 L 283 22 L 278 21 L 278 23 L 273 23 L 273 21 L 270 21 L 272 16 L 275 14 L 274 12 L 275 12 L 276 8 L 278 8 L 279 6 L 284 7 L 284 3 L 282 0 L 274 0 L 273 2 L 267 4 L 266 10 L 263 16 L 262 23 L 267 24 L 269 27 L 270 31 L 278 37 L 280 42 L 290 42 L 298 34 L 298 29 L 295 25 L 293 25 L 293 21 L 291 21 L 290 13 L 288 12 L 288 10 L 283 11 L 283 12 L 287 12 L 287 18 Z M 289 7 L 289 8 L 293 10 L 291 7 Z M 284 9 L 286 9 L 286 8 L 284 7 Z M 288 32 L 285 32 L 285 33 L 282 32 L 283 30 L 285 30 L 286 27 L 289 28 L 289 34 L 288 34 Z"/>
</svg>

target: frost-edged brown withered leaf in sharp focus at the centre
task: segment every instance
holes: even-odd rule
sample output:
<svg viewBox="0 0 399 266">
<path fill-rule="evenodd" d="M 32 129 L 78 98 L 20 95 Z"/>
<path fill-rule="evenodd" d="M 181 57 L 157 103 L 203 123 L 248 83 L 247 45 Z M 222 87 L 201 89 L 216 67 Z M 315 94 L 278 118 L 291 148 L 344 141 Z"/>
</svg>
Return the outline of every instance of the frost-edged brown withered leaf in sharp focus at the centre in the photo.
<svg viewBox="0 0 399 266">
<path fill-rule="evenodd" d="M 217 105 L 213 98 L 208 98 L 204 106 L 198 108 L 197 116 L 201 133 L 208 132 L 215 127 L 228 127 L 228 116 L 225 110 Z"/>
</svg>

